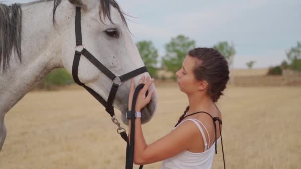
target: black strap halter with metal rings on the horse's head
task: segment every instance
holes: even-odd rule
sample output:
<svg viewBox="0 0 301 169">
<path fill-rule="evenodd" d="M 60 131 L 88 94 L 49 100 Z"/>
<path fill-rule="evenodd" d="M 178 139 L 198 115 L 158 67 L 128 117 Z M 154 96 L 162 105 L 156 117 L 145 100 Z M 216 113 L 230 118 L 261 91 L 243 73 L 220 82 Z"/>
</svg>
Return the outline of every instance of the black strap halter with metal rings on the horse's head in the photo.
<svg viewBox="0 0 301 169">
<path fill-rule="evenodd" d="M 144 72 L 148 72 L 147 67 L 141 67 L 136 69 L 132 72 L 124 74 L 122 76 L 114 75 L 110 70 L 108 70 L 103 64 L 100 63 L 83 45 L 82 42 L 82 29 L 81 29 L 81 7 L 76 7 L 75 13 L 75 38 L 76 38 L 76 47 L 83 46 L 81 51 L 77 51 L 75 48 L 73 66 L 72 66 L 72 76 L 74 82 L 85 87 L 86 90 L 89 91 L 104 107 L 106 112 L 110 114 L 111 117 L 115 115 L 113 101 L 118 90 L 118 87 L 122 84 L 122 82 L 127 81 L 135 76 L 138 76 Z M 110 80 L 112 80 L 113 84 L 108 96 L 107 101 L 105 101 L 97 92 L 95 92 L 90 87 L 86 86 L 85 84 L 81 83 L 78 79 L 78 65 L 80 61 L 81 55 L 84 55 L 93 65 L 95 65 L 104 75 L 106 75 Z M 115 83 L 116 78 L 119 78 L 120 82 Z"/>
</svg>

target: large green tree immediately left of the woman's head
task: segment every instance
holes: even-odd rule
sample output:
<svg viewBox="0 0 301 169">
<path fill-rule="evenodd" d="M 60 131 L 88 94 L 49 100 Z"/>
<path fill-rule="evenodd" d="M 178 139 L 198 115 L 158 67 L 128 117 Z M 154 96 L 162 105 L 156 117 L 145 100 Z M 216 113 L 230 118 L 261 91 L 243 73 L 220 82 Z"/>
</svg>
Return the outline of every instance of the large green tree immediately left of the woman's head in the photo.
<svg viewBox="0 0 301 169">
<path fill-rule="evenodd" d="M 178 35 L 165 44 L 166 55 L 162 58 L 162 66 L 176 73 L 182 68 L 182 63 L 188 52 L 196 47 L 196 42 L 184 35 Z"/>
</svg>

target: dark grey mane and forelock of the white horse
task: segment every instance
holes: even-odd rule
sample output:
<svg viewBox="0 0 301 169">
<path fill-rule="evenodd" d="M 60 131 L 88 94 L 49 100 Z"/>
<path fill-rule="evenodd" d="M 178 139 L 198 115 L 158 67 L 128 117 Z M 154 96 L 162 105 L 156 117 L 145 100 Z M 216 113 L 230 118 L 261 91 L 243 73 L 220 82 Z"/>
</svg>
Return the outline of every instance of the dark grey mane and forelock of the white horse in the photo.
<svg viewBox="0 0 301 169">
<path fill-rule="evenodd" d="M 5 5 L 0 3 L 0 69 L 5 72 L 9 67 L 9 60 L 14 47 L 14 52 L 17 54 L 20 63 L 22 63 L 21 54 L 21 32 L 22 32 L 22 9 L 21 5 L 32 5 L 36 3 L 52 1 L 52 0 L 36 0 L 24 4 L 14 3 L 11 5 Z M 52 9 L 52 23 L 55 25 L 55 12 L 57 6 L 61 0 L 53 0 Z M 117 9 L 123 23 L 128 28 L 125 13 L 123 13 L 119 7 L 119 4 L 115 0 L 100 0 L 100 21 L 103 22 L 103 18 L 107 17 L 111 23 L 111 9 L 110 5 Z M 1 72 L 1 70 L 0 70 Z"/>
</svg>

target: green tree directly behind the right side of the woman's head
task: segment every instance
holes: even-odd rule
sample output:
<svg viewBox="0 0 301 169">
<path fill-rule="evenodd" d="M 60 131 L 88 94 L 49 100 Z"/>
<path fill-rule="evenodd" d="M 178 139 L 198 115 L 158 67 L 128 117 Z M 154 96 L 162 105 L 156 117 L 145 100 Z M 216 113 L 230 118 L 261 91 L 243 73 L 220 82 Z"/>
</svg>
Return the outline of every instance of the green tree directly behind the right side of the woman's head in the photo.
<svg viewBox="0 0 301 169">
<path fill-rule="evenodd" d="M 218 42 L 213 46 L 215 50 L 218 50 L 228 61 L 229 65 L 233 64 L 233 56 L 235 55 L 234 46 L 230 46 L 228 42 Z"/>
</svg>

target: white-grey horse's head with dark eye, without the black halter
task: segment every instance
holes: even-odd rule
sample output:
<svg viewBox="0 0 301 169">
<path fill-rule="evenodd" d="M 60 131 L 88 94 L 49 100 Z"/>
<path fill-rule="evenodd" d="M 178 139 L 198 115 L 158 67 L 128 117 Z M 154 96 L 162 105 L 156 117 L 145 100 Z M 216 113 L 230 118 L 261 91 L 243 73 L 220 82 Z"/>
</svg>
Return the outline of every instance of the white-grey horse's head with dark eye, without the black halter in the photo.
<svg viewBox="0 0 301 169">
<path fill-rule="evenodd" d="M 55 1 L 54 1 L 55 4 Z M 114 75 L 124 75 L 144 67 L 139 51 L 131 37 L 124 13 L 115 0 L 69 0 L 68 10 L 75 12 L 76 6 L 81 7 L 82 44 L 76 48 L 74 24 L 70 24 L 63 37 L 61 62 L 63 67 L 72 74 L 75 50 L 85 48 Z M 55 12 L 55 11 L 54 11 Z M 54 16 L 54 15 L 53 15 Z M 75 19 L 75 16 L 73 16 Z M 108 99 L 113 81 L 91 63 L 86 57 L 80 57 L 78 79 L 81 83 L 97 92 L 104 100 Z M 138 84 L 141 76 L 150 76 L 148 72 L 134 77 Z M 151 90 L 155 90 L 152 84 Z M 113 107 L 121 112 L 123 123 L 128 124 L 126 111 L 130 80 L 123 82 L 116 93 Z M 151 102 L 142 109 L 142 123 L 151 120 L 157 109 L 157 94 L 153 94 Z"/>
</svg>

